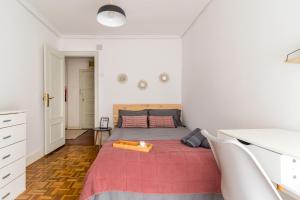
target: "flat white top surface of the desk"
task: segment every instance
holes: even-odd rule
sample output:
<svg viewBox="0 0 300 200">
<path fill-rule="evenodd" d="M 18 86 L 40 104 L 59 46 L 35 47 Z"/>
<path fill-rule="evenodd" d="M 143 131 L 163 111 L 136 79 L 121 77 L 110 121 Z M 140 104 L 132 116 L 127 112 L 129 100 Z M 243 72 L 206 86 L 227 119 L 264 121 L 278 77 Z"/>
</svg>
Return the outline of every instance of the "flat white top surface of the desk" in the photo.
<svg viewBox="0 0 300 200">
<path fill-rule="evenodd" d="M 237 129 L 219 130 L 218 133 L 300 159 L 300 132 L 282 129 Z"/>
</svg>

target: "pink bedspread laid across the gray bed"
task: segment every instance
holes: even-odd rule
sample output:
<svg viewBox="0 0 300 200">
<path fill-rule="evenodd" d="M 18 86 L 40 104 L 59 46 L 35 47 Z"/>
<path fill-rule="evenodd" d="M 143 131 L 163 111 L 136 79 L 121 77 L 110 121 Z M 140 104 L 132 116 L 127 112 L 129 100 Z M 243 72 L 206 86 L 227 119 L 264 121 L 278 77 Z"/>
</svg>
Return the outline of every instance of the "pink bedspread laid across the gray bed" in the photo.
<svg viewBox="0 0 300 200">
<path fill-rule="evenodd" d="M 214 194 L 220 174 L 211 150 L 178 140 L 148 141 L 150 153 L 116 149 L 106 143 L 85 179 L 81 200 L 110 191 L 144 194 Z"/>
</svg>

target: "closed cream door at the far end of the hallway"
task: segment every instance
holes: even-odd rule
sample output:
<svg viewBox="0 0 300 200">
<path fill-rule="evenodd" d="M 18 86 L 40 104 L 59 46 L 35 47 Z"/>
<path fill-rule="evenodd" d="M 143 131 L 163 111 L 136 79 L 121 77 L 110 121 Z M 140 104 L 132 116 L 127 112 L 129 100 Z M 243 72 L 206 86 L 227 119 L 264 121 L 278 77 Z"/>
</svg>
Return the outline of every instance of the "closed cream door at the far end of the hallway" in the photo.
<svg viewBox="0 0 300 200">
<path fill-rule="evenodd" d="M 80 70 L 79 92 L 80 126 L 81 128 L 94 128 L 95 90 L 93 70 Z"/>
</svg>

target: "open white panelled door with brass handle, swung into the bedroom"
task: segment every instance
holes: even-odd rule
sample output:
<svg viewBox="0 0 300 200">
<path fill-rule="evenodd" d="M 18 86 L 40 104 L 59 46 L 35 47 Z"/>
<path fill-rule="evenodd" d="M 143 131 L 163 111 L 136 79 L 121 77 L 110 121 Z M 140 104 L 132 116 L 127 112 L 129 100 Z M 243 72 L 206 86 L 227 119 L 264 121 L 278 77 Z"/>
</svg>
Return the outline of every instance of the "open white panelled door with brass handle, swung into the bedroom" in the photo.
<svg viewBox="0 0 300 200">
<path fill-rule="evenodd" d="M 65 58 L 44 48 L 45 154 L 65 144 Z"/>
</svg>

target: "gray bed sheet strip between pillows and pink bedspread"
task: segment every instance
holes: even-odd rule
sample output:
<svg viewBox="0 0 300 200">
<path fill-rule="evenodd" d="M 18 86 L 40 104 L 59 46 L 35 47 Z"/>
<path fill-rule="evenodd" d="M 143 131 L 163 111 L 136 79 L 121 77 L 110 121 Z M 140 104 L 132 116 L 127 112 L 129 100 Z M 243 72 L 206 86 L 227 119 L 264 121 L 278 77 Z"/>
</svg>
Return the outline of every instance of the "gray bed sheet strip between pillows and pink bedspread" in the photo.
<svg viewBox="0 0 300 200">
<path fill-rule="evenodd" d="M 189 134 L 190 130 L 178 128 L 115 128 L 109 141 L 114 140 L 177 140 Z"/>
</svg>

